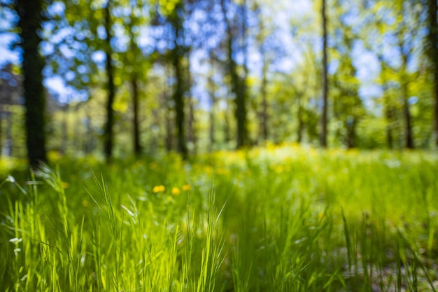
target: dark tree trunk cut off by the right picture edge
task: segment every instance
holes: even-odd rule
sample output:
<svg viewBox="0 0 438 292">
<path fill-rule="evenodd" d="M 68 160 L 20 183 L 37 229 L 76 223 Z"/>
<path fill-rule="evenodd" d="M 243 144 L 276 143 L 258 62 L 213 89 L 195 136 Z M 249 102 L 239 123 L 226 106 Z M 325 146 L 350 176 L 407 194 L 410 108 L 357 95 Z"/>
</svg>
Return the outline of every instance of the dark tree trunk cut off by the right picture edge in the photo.
<svg viewBox="0 0 438 292">
<path fill-rule="evenodd" d="M 429 56 L 432 62 L 433 95 L 435 97 L 435 116 L 433 126 L 435 132 L 435 146 L 438 147 L 438 24 L 437 0 L 429 0 Z"/>
</svg>

